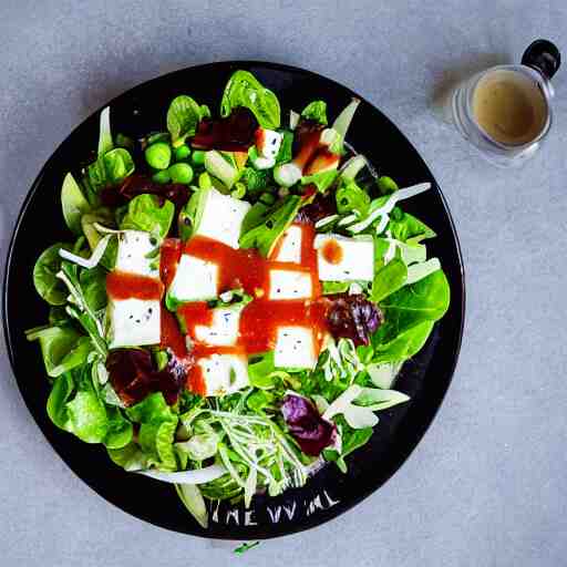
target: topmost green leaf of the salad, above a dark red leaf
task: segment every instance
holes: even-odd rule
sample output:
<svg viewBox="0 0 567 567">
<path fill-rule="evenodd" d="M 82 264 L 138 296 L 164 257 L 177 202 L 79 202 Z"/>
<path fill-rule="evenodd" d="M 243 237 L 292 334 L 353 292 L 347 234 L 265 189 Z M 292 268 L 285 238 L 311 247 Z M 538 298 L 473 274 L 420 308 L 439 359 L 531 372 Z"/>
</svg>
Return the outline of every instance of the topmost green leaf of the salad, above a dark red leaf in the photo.
<svg viewBox="0 0 567 567">
<path fill-rule="evenodd" d="M 280 125 L 277 96 L 248 71 L 236 71 L 228 80 L 220 102 L 220 115 L 228 116 L 238 106 L 249 109 L 264 128 L 276 130 Z"/>
</svg>

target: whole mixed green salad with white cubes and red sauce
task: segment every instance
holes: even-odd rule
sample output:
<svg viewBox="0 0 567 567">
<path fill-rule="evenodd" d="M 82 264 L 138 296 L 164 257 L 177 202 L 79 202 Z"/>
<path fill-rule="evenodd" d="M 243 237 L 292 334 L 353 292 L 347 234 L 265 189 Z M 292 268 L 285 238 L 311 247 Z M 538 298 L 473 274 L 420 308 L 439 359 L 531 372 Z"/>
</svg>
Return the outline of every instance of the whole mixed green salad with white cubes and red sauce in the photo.
<svg viewBox="0 0 567 567">
<path fill-rule="evenodd" d="M 406 403 L 393 389 L 449 308 L 432 228 L 347 143 L 358 100 L 282 116 L 236 71 L 219 109 L 175 97 L 163 132 L 113 135 L 65 175 L 64 243 L 38 258 L 30 329 L 58 427 L 132 474 L 205 498 L 302 486 Z M 172 487 L 173 489 L 173 487 Z"/>
</svg>

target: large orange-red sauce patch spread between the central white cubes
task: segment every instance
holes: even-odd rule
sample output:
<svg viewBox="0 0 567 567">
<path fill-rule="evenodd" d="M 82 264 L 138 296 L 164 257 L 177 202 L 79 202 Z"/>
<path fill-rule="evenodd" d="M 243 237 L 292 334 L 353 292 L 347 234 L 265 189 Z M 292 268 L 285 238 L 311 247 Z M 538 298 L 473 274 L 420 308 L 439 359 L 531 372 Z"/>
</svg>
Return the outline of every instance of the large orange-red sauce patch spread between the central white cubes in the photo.
<svg viewBox="0 0 567 567">
<path fill-rule="evenodd" d="M 197 394 L 206 393 L 206 384 L 202 368 L 194 361 L 212 354 L 255 354 L 275 348 L 277 330 L 281 326 L 305 326 L 315 331 L 315 347 L 320 351 L 326 332 L 326 302 L 318 299 L 321 295 L 317 251 L 313 248 L 315 227 L 310 224 L 297 224 L 301 227 L 301 262 L 278 262 L 260 256 L 256 249 L 235 250 L 216 240 L 196 236 L 183 245 L 183 254 L 189 254 L 219 267 L 219 292 L 229 289 L 244 288 L 255 297 L 240 316 L 239 339 L 236 347 L 212 347 L 195 342 L 188 357 L 177 321 L 166 312 L 162 324 L 162 342 L 167 344 L 179 358 L 190 358 L 186 383 L 187 388 Z M 278 244 L 278 246 L 281 246 Z M 179 247 L 181 248 L 181 247 Z M 177 244 L 175 240 L 165 243 L 162 250 L 162 278 L 171 282 L 174 268 L 178 261 Z M 164 254 L 165 251 L 165 254 Z M 274 257 L 274 255 L 272 255 Z M 173 258 L 173 259 L 172 259 Z M 309 300 L 268 300 L 269 270 L 274 268 L 286 270 L 308 271 L 311 274 L 313 298 Z M 181 306 L 177 315 L 182 327 L 195 340 L 195 327 L 213 323 L 213 310 L 204 301 L 195 301 Z M 175 328 L 175 329 L 174 329 Z"/>
</svg>

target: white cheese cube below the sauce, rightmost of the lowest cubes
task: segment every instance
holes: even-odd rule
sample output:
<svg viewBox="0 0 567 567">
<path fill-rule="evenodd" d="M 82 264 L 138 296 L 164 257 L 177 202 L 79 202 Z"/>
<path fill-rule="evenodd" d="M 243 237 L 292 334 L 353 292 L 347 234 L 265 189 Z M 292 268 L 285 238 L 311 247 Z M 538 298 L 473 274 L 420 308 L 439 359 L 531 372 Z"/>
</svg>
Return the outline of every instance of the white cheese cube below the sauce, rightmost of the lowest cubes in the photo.
<svg viewBox="0 0 567 567">
<path fill-rule="evenodd" d="M 308 368 L 317 364 L 313 331 L 309 327 L 280 327 L 276 334 L 274 364 L 277 368 Z"/>
</svg>

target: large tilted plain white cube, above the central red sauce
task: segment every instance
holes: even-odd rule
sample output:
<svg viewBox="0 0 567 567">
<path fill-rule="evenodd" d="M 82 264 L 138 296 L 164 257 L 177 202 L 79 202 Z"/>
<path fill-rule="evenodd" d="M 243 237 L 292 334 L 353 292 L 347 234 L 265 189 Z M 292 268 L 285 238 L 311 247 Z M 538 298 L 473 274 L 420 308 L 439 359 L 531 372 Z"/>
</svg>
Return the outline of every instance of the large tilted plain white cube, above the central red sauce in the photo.
<svg viewBox="0 0 567 567">
<path fill-rule="evenodd" d="M 235 199 L 212 188 L 207 194 L 195 235 L 218 240 L 236 250 L 239 247 L 240 227 L 250 207 L 246 200 Z"/>
</svg>

